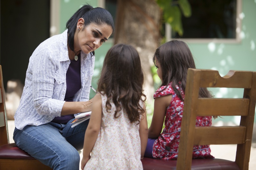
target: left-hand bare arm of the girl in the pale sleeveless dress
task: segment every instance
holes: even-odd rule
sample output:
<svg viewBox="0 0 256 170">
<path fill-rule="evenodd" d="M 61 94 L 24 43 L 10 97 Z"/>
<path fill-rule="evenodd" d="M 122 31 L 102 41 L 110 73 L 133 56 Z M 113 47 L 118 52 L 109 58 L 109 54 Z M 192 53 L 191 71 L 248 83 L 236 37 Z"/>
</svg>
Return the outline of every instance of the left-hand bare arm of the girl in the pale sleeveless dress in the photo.
<svg viewBox="0 0 256 170">
<path fill-rule="evenodd" d="M 83 159 L 81 161 L 82 170 L 84 169 L 84 166 L 87 163 L 87 161 L 90 159 L 90 153 L 92 152 L 92 148 L 97 140 L 100 131 L 101 114 L 101 96 L 100 93 L 97 93 L 93 98 L 92 114 L 84 136 L 84 151 Z"/>
</svg>

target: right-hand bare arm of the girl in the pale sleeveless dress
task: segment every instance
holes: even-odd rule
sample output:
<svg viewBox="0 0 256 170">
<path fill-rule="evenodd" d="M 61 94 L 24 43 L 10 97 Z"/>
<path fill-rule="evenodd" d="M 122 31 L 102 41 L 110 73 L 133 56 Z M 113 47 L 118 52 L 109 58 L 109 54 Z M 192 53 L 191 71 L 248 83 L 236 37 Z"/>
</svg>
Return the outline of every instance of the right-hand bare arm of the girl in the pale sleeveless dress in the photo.
<svg viewBox="0 0 256 170">
<path fill-rule="evenodd" d="M 143 106 L 144 109 L 144 113 L 141 116 L 141 120 L 140 120 L 140 129 L 139 129 L 139 133 L 140 133 L 140 146 L 141 146 L 141 159 L 143 159 L 144 157 L 144 153 L 147 147 L 147 143 L 148 143 L 148 122 L 147 122 L 147 113 L 146 113 L 146 105 L 144 103 Z"/>
</svg>

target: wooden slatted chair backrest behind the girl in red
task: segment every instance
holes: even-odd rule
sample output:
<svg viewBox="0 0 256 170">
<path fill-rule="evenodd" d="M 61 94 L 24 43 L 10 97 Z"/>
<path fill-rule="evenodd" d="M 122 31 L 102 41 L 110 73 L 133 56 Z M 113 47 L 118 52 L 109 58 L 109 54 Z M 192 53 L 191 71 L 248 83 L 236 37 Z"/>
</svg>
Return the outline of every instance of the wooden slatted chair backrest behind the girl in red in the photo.
<svg viewBox="0 0 256 170">
<path fill-rule="evenodd" d="M 199 98 L 200 87 L 243 88 L 241 98 Z M 177 169 L 190 169 L 193 145 L 237 144 L 236 164 L 249 168 L 256 103 L 256 72 L 188 69 Z M 196 116 L 241 116 L 240 126 L 196 127 Z M 213 155 L 214 156 L 214 155 Z"/>
</svg>

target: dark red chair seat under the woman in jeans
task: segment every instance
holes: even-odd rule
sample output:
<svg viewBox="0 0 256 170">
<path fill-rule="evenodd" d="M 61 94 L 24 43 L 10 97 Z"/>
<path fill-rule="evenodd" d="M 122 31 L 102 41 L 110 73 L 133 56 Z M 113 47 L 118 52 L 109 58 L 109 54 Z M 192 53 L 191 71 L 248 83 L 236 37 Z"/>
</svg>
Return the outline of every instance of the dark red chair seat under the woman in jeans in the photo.
<svg viewBox="0 0 256 170">
<path fill-rule="evenodd" d="M 18 148 L 15 143 L 0 146 L 0 159 L 35 159 Z"/>
</svg>

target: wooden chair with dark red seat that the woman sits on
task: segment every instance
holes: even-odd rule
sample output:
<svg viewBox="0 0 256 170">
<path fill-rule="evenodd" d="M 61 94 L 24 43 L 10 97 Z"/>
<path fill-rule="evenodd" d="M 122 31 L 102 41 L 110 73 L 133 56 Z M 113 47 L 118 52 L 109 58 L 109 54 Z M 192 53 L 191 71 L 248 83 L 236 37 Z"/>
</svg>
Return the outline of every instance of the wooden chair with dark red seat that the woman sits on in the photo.
<svg viewBox="0 0 256 170">
<path fill-rule="evenodd" d="M 3 170 L 50 170 L 49 166 L 31 157 L 15 143 L 9 143 L 2 66 L 0 65 L 0 169 Z"/>
</svg>

